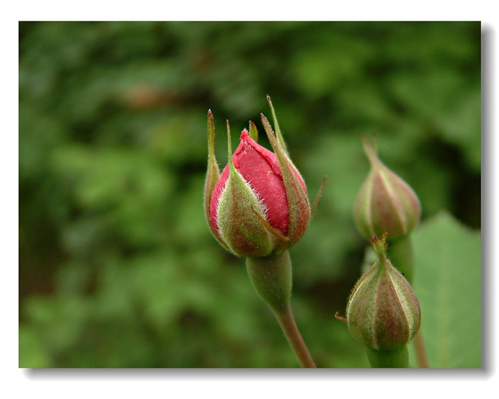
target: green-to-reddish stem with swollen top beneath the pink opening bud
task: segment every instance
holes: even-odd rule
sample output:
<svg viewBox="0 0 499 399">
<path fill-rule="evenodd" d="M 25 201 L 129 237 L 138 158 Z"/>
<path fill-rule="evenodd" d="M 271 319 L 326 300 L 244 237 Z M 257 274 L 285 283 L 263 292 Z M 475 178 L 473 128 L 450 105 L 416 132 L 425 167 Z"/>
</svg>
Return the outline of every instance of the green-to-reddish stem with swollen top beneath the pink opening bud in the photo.
<svg viewBox="0 0 499 399">
<path fill-rule="evenodd" d="M 246 258 L 246 267 L 254 289 L 273 310 L 300 365 L 315 368 L 291 311 L 292 267 L 289 252 Z"/>
</svg>

